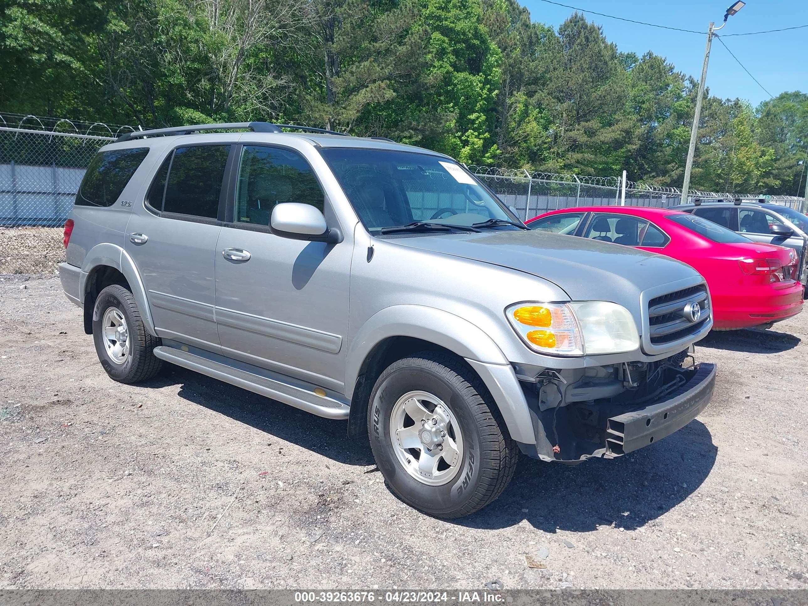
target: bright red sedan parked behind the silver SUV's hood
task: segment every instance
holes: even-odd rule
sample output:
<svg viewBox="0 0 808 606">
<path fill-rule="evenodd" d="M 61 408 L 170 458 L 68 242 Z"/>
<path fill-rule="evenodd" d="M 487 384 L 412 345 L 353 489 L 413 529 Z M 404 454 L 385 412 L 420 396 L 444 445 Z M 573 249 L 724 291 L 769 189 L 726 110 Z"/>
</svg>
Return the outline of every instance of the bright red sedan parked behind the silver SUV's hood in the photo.
<svg viewBox="0 0 808 606">
<path fill-rule="evenodd" d="M 527 225 L 688 263 L 707 280 L 718 330 L 768 328 L 802 311 L 793 249 L 752 242 L 702 217 L 667 208 L 591 206 L 545 213 Z"/>
</svg>

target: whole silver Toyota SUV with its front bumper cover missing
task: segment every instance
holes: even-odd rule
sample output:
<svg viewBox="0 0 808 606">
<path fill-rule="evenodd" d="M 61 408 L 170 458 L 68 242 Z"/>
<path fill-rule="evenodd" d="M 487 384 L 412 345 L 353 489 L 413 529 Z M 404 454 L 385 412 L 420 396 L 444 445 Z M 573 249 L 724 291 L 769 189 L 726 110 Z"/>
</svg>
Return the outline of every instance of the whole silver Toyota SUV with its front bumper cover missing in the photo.
<svg viewBox="0 0 808 606">
<path fill-rule="evenodd" d="M 389 140 L 130 133 L 91 162 L 65 242 L 112 379 L 166 361 L 347 420 L 432 516 L 496 499 L 520 451 L 618 457 L 713 393 L 689 356 L 713 324 L 691 267 L 531 231 L 452 158 Z"/>
</svg>

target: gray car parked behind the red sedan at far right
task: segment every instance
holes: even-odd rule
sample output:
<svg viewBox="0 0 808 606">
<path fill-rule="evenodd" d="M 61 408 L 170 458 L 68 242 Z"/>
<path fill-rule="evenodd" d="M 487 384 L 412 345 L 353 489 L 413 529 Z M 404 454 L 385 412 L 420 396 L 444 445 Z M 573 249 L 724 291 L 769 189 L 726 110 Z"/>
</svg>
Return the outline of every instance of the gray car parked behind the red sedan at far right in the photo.
<svg viewBox="0 0 808 606">
<path fill-rule="evenodd" d="M 793 248 L 800 263 L 800 282 L 808 284 L 808 217 L 793 208 L 767 202 L 696 200 L 671 210 L 704 217 L 755 242 Z"/>
</svg>

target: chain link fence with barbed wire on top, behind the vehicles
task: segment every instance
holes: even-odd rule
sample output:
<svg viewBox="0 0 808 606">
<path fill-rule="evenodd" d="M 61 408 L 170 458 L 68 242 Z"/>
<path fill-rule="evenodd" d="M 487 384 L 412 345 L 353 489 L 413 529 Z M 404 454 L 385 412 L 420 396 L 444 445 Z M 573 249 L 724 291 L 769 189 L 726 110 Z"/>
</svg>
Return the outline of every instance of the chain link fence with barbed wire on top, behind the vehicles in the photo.
<svg viewBox="0 0 808 606">
<path fill-rule="evenodd" d="M 0 274 L 53 273 L 64 258 L 62 226 L 86 166 L 103 145 L 135 130 L 122 124 L 0 113 Z M 558 208 L 621 204 L 620 177 L 584 177 L 469 166 L 523 219 Z M 728 192 L 690 191 L 690 198 L 757 200 Z M 680 204 L 681 191 L 625 183 L 625 204 Z M 769 202 L 806 212 L 806 201 L 771 196 Z"/>
</svg>

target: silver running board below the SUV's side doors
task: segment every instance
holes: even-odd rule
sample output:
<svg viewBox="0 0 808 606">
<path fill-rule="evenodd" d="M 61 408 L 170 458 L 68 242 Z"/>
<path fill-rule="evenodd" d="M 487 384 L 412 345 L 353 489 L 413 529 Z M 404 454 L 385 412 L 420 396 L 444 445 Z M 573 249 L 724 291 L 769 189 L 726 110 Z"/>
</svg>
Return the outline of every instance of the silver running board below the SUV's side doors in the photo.
<svg viewBox="0 0 808 606">
<path fill-rule="evenodd" d="M 191 351 L 183 351 L 183 349 L 193 349 L 200 351 L 200 354 L 204 355 L 197 355 L 196 353 L 191 353 Z M 291 381 L 294 380 L 291 377 L 289 378 L 290 382 L 281 381 L 281 375 L 276 372 L 263 371 L 260 368 L 255 368 L 255 372 L 250 372 L 250 370 L 246 369 L 250 368 L 250 364 L 244 364 L 237 360 L 232 360 L 232 364 L 230 364 L 231 360 L 229 358 L 218 356 L 208 351 L 197 350 L 196 347 L 185 346 L 183 349 L 161 345 L 154 347 L 154 355 L 160 360 L 166 360 L 166 362 L 177 364 L 188 370 L 201 372 L 208 377 L 225 381 L 230 385 L 236 385 L 319 417 L 325 417 L 326 419 L 348 418 L 348 412 L 351 410 L 350 406 L 347 402 L 339 401 L 338 396 L 333 392 L 329 394 L 323 389 L 326 395 L 320 396 L 314 393 L 314 389 L 322 388 L 315 388 L 312 385 L 312 390 L 306 389 L 302 381 L 299 385 L 292 385 Z M 214 357 L 221 361 L 213 360 L 212 358 Z M 235 364 L 242 368 L 236 368 Z M 262 374 L 258 374 L 258 372 Z M 265 376 L 264 372 L 266 375 L 271 374 L 277 378 Z"/>
</svg>

